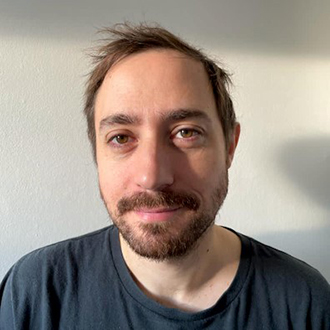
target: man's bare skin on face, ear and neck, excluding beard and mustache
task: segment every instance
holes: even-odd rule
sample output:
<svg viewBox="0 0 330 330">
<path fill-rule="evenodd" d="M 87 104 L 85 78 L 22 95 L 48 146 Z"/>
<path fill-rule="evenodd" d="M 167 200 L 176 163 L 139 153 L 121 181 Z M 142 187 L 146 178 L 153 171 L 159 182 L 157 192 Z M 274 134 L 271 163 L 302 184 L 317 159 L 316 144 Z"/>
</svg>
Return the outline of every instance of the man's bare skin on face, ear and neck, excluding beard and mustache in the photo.
<svg viewBox="0 0 330 330">
<path fill-rule="evenodd" d="M 201 115 L 173 119 L 171 114 L 182 109 Z M 118 215 L 122 197 L 166 190 L 192 192 L 200 201 L 199 212 L 214 219 L 220 207 L 214 194 L 225 184 L 240 127 L 236 125 L 226 149 L 201 63 L 173 50 L 149 50 L 121 60 L 100 87 L 95 127 L 100 190 L 115 223 L 125 221 L 150 246 L 156 246 L 159 237 L 144 235 L 140 224 L 167 223 L 164 240 L 180 235 L 195 211 L 158 207 Z M 239 238 L 214 224 L 182 258 L 143 258 L 122 236 L 120 242 L 126 264 L 145 294 L 187 312 L 212 306 L 239 265 Z"/>
</svg>

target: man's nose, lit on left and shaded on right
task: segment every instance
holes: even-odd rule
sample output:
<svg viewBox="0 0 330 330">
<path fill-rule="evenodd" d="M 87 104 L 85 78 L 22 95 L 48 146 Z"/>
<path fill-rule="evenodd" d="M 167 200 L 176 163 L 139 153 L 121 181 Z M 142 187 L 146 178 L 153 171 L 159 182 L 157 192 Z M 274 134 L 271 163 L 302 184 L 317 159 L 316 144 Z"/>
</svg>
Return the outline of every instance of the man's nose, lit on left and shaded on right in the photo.
<svg viewBox="0 0 330 330">
<path fill-rule="evenodd" d="M 174 182 L 170 150 L 161 143 L 145 141 L 135 157 L 135 184 L 143 190 L 161 191 Z"/>
</svg>

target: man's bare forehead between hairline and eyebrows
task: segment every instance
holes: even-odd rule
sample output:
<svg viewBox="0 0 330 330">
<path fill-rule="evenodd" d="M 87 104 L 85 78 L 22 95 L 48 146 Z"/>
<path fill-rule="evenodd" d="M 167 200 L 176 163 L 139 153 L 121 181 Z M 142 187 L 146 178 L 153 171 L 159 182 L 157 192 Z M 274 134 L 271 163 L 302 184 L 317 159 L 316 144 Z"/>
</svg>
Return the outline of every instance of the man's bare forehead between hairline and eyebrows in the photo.
<svg viewBox="0 0 330 330">
<path fill-rule="evenodd" d="M 109 70 L 96 98 L 95 121 L 114 113 L 148 119 L 188 108 L 216 113 L 203 64 L 174 50 L 149 50 Z"/>
</svg>

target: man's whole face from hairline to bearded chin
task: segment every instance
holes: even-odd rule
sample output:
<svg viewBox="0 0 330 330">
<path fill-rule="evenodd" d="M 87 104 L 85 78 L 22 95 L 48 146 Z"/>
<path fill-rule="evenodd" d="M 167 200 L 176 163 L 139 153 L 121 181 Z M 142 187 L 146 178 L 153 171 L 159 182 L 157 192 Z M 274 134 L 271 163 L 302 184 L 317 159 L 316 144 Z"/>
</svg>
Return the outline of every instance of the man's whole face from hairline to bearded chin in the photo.
<svg viewBox="0 0 330 330">
<path fill-rule="evenodd" d="M 95 104 L 102 198 L 121 236 L 157 260 L 190 251 L 228 187 L 227 155 L 201 63 L 172 50 L 131 55 Z"/>
</svg>

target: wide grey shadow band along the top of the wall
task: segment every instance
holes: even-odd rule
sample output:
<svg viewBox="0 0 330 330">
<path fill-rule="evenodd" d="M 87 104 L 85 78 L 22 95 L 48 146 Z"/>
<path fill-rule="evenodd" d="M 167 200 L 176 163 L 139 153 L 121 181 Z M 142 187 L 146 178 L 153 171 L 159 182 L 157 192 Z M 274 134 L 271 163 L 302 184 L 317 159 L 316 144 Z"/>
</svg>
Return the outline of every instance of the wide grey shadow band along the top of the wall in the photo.
<svg viewBox="0 0 330 330">
<path fill-rule="evenodd" d="M 221 48 L 329 57 L 329 11 L 324 0 L 1 0 L 0 35 L 86 40 L 94 27 L 146 20 Z"/>
</svg>

